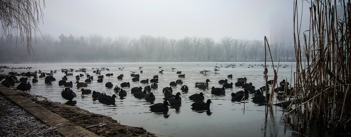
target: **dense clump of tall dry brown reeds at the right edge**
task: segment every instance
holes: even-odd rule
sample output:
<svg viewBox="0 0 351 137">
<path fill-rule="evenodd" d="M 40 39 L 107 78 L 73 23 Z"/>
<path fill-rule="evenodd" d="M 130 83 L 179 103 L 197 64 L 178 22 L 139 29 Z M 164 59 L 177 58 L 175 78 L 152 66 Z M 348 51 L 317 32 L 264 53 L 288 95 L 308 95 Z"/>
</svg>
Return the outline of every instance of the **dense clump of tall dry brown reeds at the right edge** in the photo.
<svg viewBox="0 0 351 137">
<path fill-rule="evenodd" d="M 301 22 L 297 0 L 294 2 L 297 63 L 295 97 L 288 108 L 295 106 L 285 116 L 297 113 L 295 122 L 316 121 L 329 129 L 347 131 L 351 123 L 351 5 L 350 0 L 341 1 L 341 5 L 335 5 L 336 2 L 311 0 L 310 30 L 304 32 L 304 41 L 300 41 Z"/>
</svg>

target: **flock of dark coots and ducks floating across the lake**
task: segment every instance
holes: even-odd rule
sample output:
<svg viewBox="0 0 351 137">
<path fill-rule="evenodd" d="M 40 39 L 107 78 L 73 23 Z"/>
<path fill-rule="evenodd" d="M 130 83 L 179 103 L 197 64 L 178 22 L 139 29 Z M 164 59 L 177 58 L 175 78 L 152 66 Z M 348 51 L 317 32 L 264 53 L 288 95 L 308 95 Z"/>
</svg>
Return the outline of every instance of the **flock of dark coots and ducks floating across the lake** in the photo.
<svg viewBox="0 0 351 137">
<path fill-rule="evenodd" d="M 240 64 L 242 65 L 242 64 Z M 261 64 L 263 65 L 263 64 Z M 220 65 L 222 66 L 222 65 Z M 235 66 L 235 64 L 230 64 L 228 66 Z M 143 67 L 139 67 L 139 69 L 141 69 Z M 159 67 L 161 68 L 161 67 Z M 217 69 L 218 67 L 215 66 L 214 71 L 219 71 Z M 101 75 L 101 70 L 109 70 L 108 68 L 93 68 L 96 69 L 93 71 L 93 73 L 97 74 L 97 82 L 103 82 L 104 79 L 104 75 Z M 121 68 L 123 69 L 123 68 Z M 172 67 L 171 68 L 172 71 L 177 69 Z M 69 73 L 69 72 L 73 72 L 74 69 L 69 68 L 69 69 L 61 69 L 61 72 L 64 73 L 65 75 L 61 78 L 62 80 L 59 81 L 59 86 L 64 86 L 64 89 L 61 92 L 61 96 L 64 99 L 70 100 L 72 101 L 75 97 L 77 97 L 76 93 L 74 93 L 71 88 L 74 86 L 74 84 L 76 84 L 75 86 L 77 88 L 80 87 L 87 87 L 88 83 L 91 83 L 92 80 L 94 80 L 94 76 L 91 76 L 90 74 L 86 73 L 86 68 L 79 68 L 79 70 L 75 70 L 75 72 L 85 72 L 85 82 L 79 82 L 79 80 L 81 78 L 84 77 L 84 74 L 79 74 L 77 76 L 75 76 L 76 78 L 76 82 L 73 83 L 72 81 L 67 81 L 68 78 L 67 77 L 74 77 L 73 73 Z M 158 73 L 163 73 L 164 70 L 159 71 Z M 204 73 L 208 72 L 207 70 L 203 70 Z M 45 73 L 45 72 L 41 72 L 40 70 L 37 72 L 22 72 L 22 73 L 15 73 L 15 72 L 9 72 L 6 76 L 2 75 L 0 77 L 0 81 L 2 79 L 5 79 L 4 81 L 1 82 L 2 85 L 6 86 L 6 87 L 10 87 L 10 86 L 14 86 L 14 83 L 20 83 L 16 89 L 17 90 L 21 90 L 21 91 L 27 91 L 31 89 L 31 84 L 28 81 L 28 78 L 32 78 L 32 83 L 36 83 L 38 82 L 38 77 L 39 78 L 44 78 L 45 84 L 52 84 L 52 81 L 55 81 L 56 79 L 53 77 L 54 74 L 57 73 L 57 71 L 51 71 L 50 73 Z M 140 80 L 140 75 L 137 74 L 138 72 L 136 71 L 131 71 L 130 76 L 132 77 L 132 81 L 140 81 L 140 83 L 144 83 L 144 84 L 149 84 L 151 83 L 151 85 L 145 86 L 143 87 L 133 87 L 131 89 L 131 94 L 133 94 L 133 96 L 135 98 L 138 99 L 145 99 L 147 101 L 154 101 L 155 100 L 155 96 L 154 94 L 151 92 L 152 89 L 158 89 L 158 75 L 153 76 L 153 78 L 151 80 L 149 79 L 144 79 L 144 80 Z M 143 71 L 141 70 L 140 73 L 143 73 Z M 155 72 L 157 73 L 157 72 Z M 182 77 L 185 78 L 185 74 L 181 74 L 181 71 L 177 71 L 176 74 L 178 75 L 178 77 Z M 39 76 L 38 76 L 39 75 Z M 19 80 L 16 76 L 23 76 L 21 77 Z M 113 73 L 107 73 L 105 74 L 105 76 L 113 76 Z M 227 76 L 228 78 L 233 78 L 233 75 L 230 74 Z M 123 79 L 124 75 L 120 74 L 117 79 Z M 260 87 L 259 89 L 256 90 L 256 87 L 253 86 L 253 84 L 247 83 L 247 79 L 246 77 L 244 78 L 237 78 L 236 79 L 237 82 L 236 83 L 229 83 L 229 81 L 227 79 L 225 80 L 219 80 L 218 83 L 222 85 L 222 87 L 214 87 L 212 86 L 212 88 L 208 88 L 209 86 L 209 82 L 210 79 L 206 79 L 205 81 L 202 82 L 196 82 L 195 87 L 199 88 L 199 89 L 203 89 L 203 90 L 211 90 L 211 94 L 214 95 L 223 95 L 225 94 L 226 89 L 228 88 L 233 88 L 233 86 L 237 86 L 237 87 L 241 87 L 243 89 L 243 91 L 238 91 L 236 93 L 231 93 L 231 101 L 232 102 L 240 102 L 243 101 L 245 99 L 249 99 L 249 94 L 254 94 L 254 96 L 252 97 L 252 100 L 254 103 L 265 103 L 266 102 L 266 97 L 264 96 L 264 91 L 269 91 L 269 85 L 273 84 L 274 81 L 273 80 L 269 80 L 268 83 L 266 84 L 266 86 Z M 152 112 L 167 112 L 168 111 L 168 106 L 169 105 L 180 105 L 181 104 L 181 97 L 180 97 L 180 92 L 177 92 L 176 94 L 173 94 L 173 89 L 174 86 L 176 86 L 177 84 L 183 84 L 182 80 L 177 80 L 177 81 L 172 81 L 170 82 L 170 86 L 169 87 L 164 87 L 162 92 L 165 96 L 163 103 L 157 103 L 157 104 L 153 104 L 150 106 L 150 110 Z M 289 89 L 287 88 L 289 83 L 286 82 L 285 80 L 281 81 L 279 83 L 279 87 L 277 87 L 276 89 L 274 89 L 274 92 L 277 92 L 277 99 L 284 99 L 287 97 L 287 95 L 293 96 L 293 92 L 292 92 L 292 88 Z M 116 94 L 113 94 L 112 96 L 107 95 L 105 92 L 98 92 L 98 91 L 91 91 L 89 89 L 86 88 L 82 88 L 81 89 L 81 94 L 91 94 L 92 98 L 99 100 L 99 102 L 103 103 L 103 104 L 115 104 L 115 98 L 117 96 L 120 96 L 121 98 L 127 96 L 127 91 L 123 90 L 122 88 L 124 87 L 130 87 L 130 83 L 129 82 L 124 82 L 120 84 L 119 86 L 114 86 L 111 82 L 107 82 L 105 84 L 106 87 L 108 88 L 112 88 L 114 87 L 114 92 Z M 187 85 L 183 85 L 181 86 L 180 90 L 182 92 L 187 92 L 189 90 Z M 267 93 L 267 95 L 269 95 L 269 93 Z M 188 97 L 190 100 L 194 101 L 191 106 L 193 110 L 199 110 L 199 111 L 203 111 L 203 110 L 210 110 L 210 104 L 212 103 L 211 99 L 207 99 L 206 102 L 204 102 L 205 97 L 203 92 L 200 93 L 196 93 L 196 94 L 192 94 L 191 96 Z"/>
</svg>

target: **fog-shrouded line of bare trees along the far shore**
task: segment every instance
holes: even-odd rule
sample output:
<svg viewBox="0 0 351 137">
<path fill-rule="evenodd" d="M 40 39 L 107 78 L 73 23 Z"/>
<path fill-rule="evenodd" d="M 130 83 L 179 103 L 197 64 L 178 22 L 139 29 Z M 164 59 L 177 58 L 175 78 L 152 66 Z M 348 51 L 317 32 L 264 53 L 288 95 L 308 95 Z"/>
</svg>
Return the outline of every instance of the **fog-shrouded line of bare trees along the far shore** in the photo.
<svg viewBox="0 0 351 137">
<path fill-rule="evenodd" d="M 141 35 L 139 38 L 116 38 L 90 34 L 74 37 L 61 34 L 58 40 L 44 35 L 32 41 L 34 56 L 28 56 L 24 43 L 0 39 L 1 62 L 62 62 L 62 61 L 247 61 L 264 60 L 264 41 L 222 37 L 181 39 Z M 14 38 L 15 39 L 15 38 Z M 295 60 L 293 45 L 272 43 L 273 60 Z M 267 48 L 268 51 L 268 48 Z M 267 52 L 267 59 L 269 52 Z"/>
</svg>

